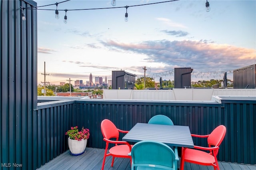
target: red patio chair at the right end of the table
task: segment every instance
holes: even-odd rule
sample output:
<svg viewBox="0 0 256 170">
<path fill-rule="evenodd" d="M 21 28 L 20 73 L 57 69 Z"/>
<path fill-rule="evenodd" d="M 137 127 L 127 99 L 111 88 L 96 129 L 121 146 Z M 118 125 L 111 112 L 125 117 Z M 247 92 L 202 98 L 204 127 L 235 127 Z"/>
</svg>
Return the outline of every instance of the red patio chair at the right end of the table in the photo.
<svg viewBox="0 0 256 170">
<path fill-rule="evenodd" d="M 182 148 L 182 156 L 180 163 L 180 170 L 184 170 L 184 162 L 190 162 L 194 164 L 213 166 L 214 170 L 220 170 L 217 160 L 217 154 L 219 151 L 219 146 L 224 139 L 226 134 L 226 127 L 220 125 L 216 127 L 211 134 L 207 135 L 197 135 L 191 134 L 191 136 L 199 138 L 207 138 L 209 147 L 194 146 L 194 149 L 191 148 Z M 213 147 L 212 147 L 213 146 Z M 200 150 L 197 150 L 200 149 Z M 204 152 L 206 150 L 208 152 Z"/>
</svg>

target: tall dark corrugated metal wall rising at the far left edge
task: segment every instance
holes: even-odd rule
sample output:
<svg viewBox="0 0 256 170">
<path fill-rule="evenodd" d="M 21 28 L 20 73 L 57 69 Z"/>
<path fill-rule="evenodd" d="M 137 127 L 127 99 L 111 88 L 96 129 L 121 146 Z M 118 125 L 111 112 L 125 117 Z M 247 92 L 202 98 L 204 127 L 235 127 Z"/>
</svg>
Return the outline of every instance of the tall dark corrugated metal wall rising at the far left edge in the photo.
<svg viewBox="0 0 256 170">
<path fill-rule="evenodd" d="M 0 162 L 27 169 L 33 160 L 28 158 L 37 106 L 37 15 L 25 10 L 22 21 L 20 6 L 30 7 L 25 1 L 0 0 Z"/>
</svg>

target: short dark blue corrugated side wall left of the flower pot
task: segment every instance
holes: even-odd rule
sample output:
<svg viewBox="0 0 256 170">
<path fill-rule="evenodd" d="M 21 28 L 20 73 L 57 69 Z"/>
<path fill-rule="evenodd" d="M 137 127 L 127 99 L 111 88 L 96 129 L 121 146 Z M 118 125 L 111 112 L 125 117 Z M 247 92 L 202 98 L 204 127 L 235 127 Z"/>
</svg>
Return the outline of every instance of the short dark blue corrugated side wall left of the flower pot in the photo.
<svg viewBox="0 0 256 170">
<path fill-rule="evenodd" d="M 74 101 L 39 107 L 33 120 L 33 167 L 36 169 L 68 150 L 68 136 L 65 132 L 77 126 Z M 78 127 L 81 129 L 82 127 Z M 28 157 L 29 159 L 32 156 Z"/>
</svg>

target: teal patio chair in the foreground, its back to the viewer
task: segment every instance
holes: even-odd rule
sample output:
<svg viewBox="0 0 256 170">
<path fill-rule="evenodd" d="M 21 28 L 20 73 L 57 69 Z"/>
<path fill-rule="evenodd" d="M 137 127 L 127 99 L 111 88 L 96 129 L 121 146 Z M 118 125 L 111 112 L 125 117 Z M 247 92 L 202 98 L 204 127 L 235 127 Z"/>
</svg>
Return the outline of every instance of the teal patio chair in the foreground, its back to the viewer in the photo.
<svg viewBox="0 0 256 170">
<path fill-rule="evenodd" d="M 154 140 L 137 142 L 128 154 L 132 156 L 132 170 L 177 170 L 178 151 Z"/>
</svg>

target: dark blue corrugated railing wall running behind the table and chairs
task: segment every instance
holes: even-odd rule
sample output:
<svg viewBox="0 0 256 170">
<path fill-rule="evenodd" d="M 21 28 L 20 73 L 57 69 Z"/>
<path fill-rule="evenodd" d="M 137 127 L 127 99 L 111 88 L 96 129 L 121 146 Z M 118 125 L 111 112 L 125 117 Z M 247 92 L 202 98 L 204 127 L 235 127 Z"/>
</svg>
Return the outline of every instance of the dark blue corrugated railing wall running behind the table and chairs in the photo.
<svg viewBox="0 0 256 170">
<path fill-rule="evenodd" d="M 205 104 L 91 100 L 76 103 L 80 116 L 78 125 L 88 127 L 91 132 L 90 147 L 105 147 L 100 130 L 103 119 L 110 119 L 120 129 L 130 130 L 137 122 L 147 123 L 154 115 L 162 114 L 170 117 L 175 125 L 189 126 L 194 134 L 210 134 L 218 125 L 225 125 L 227 133 L 220 145 L 218 160 L 256 164 L 255 102 Z M 206 139 L 194 139 L 194 143 L 206 146 Z"/>
</svg>

